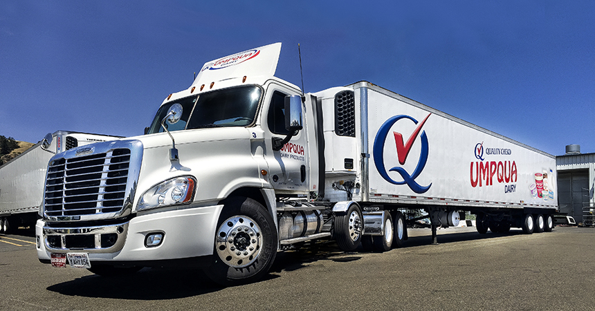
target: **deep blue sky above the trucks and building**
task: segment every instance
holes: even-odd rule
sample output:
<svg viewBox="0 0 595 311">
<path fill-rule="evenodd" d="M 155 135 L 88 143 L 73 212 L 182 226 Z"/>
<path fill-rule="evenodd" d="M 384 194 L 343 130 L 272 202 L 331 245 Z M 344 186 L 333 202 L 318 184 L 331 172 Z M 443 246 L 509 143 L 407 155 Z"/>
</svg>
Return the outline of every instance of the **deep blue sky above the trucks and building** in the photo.
<svg viewBox="0 0 595 311">
<path fill-rule="evenodd" d="M 366 3 L 366 4 L 364 4 Z M 367 80 L 553 155 L 595 152 L 595 1 L 0 2 L 0 135 L 143 133 L 205 62 L 282 42 L 306 92 Z"/>
</svg>

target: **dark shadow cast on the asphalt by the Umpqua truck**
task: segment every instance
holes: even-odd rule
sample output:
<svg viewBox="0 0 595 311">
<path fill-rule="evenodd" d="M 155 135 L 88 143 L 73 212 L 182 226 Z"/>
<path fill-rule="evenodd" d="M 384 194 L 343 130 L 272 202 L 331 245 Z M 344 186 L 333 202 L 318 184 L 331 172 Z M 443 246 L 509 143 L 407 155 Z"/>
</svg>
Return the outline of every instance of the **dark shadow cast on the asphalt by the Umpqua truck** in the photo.
<svg viewBox="0 0 595 311">
<path fill-rule="evenodd" d="M 418 232 L 419 233 L 419 232 Z M 423 232 L 422 232 L 423 234 Z M 460 241 L 484 240 L 502 236 L 515 236 L 521 231 L 508 234 L 478 234 L 477 232 L 452 232 L 439 234 L 440 244 Z M 430 245 L 431 236 L 411 236 L 402 248 Z M 363 258 L 368 252 L 361 247 L 356 252 L 342 252 L 334 241 L 318 240 L 297 245 L 298 247 L 277 253 L 275 263 L 262 281 L 276 279 L 275 273 L 292 272 L 317 261 L 348 263 Z M 83 276 L 73 281 L 51 285 L 47 288 L 67 296 L 88 296 L 111 299 L 163 300 L 178 299 L 217 292 L 219 285 L 213 283 L 199 269 L 145 268 L 130 276 L 106 277 Z"/>
</svg>

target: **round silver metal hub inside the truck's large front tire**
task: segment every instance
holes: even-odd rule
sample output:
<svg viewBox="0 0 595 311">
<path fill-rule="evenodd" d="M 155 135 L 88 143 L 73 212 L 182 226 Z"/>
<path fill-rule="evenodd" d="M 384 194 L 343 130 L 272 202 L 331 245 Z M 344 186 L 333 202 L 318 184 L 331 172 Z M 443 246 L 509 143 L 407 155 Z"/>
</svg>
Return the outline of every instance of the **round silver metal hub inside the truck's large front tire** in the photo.
<svg viewBox="0 0 595 311">
<path fill-rule="evenodd" d="M 247 267 L 260 254 L 262 234 L 255 221 L 246 216 L 233 216 L 217 229 L 215 249 L 230 267 Z"/>
</svg>

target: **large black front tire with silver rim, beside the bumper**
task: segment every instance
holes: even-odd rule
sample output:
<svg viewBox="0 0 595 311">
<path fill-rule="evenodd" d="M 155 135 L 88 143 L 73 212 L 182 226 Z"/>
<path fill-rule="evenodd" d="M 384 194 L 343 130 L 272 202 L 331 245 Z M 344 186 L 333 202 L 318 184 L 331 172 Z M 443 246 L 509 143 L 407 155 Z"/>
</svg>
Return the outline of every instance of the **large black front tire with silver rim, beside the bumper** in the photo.
<svg viewBox="0 0 595 311">
<path fill-rule="evenodd" d="M 277 230 L 271 214 L 251 198 L 223 202 L 213 239 L 213 261 L 205 274 L 223 286 L 261 279 L 277 256 Z"/>
</svg>

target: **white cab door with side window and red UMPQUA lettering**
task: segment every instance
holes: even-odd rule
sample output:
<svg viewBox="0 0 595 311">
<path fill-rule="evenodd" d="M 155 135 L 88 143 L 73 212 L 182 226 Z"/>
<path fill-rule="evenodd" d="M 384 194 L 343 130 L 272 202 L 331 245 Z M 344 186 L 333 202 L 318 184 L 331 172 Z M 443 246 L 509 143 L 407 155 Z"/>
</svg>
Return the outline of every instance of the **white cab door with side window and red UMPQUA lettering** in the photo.
<svg viewBox="0 0 595 311">
<path fill-rule="evenodd" d="M 285 96 L 296 95 L 292 88 L 269 84 L 264 98 L 262 129 L 264 130 L 264 158 L 268 164 L 268 180 L 277 194 L 307 194 L 309 191 L 309 151 L 306 117 L 302 115 L 304 129 L 298 131 L 279 151 L 273 150 L 273 138 L 286 138 Z M 305 107 L 302 104 L 305 114 Z"/>
</svg>

